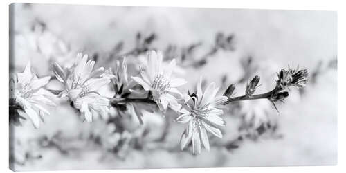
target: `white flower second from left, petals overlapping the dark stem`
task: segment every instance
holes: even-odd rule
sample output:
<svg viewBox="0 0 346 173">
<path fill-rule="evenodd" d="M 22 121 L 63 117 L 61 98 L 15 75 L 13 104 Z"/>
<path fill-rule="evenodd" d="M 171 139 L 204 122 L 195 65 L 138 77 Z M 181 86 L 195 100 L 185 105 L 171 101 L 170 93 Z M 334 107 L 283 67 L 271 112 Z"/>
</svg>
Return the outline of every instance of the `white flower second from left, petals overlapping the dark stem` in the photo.
<svg viewBox="0 0 346 173">
<path fill-rule="evenodd" d="M 88 60 L 88 55 L 79 53 L 75 64 L 70 69 L 62 69 L 55 63 L 54 73 L 65 89 L 62 96 L 66 96 L 71 104 L 84 116 L 87 122 L 91 122 L 93 116 L 107 116 L 109 100 L 102 97 L 97 91 L 102 86 L 109 84 L 109 77 L 102 75 L 104 68 L 100 67 L 93 71 L 95 62 Z"/>
</svg>

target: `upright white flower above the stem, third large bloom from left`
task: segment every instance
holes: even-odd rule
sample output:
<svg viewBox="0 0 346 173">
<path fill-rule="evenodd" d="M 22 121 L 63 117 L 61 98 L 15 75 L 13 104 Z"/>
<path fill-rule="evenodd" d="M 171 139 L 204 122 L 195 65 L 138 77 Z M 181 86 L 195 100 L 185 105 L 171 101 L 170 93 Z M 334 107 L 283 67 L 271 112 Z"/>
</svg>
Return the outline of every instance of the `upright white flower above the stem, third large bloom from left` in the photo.
<svg viewBox="0 0 346 173">
<path fill-rule="evenodd" d="M 162 65 L 163 57 L 161 53 L 149 51 L 147 54 L 147 64 L 140 67 L 140 76 L 131 77 L 138 82 L 145 91 L 151 91 L 152 100 L 154 100 L 161 111 L 165 112 L 168 106 L 174 110 L 179 110 L 181 105 L 178 104 L 177 98 L 181 98 L 181 93 L 176 87 L 186 84 L 181 78 L 172 78 L 172 70 L 176 66 L 175 59 L 165 69 Z"/>
</svg>

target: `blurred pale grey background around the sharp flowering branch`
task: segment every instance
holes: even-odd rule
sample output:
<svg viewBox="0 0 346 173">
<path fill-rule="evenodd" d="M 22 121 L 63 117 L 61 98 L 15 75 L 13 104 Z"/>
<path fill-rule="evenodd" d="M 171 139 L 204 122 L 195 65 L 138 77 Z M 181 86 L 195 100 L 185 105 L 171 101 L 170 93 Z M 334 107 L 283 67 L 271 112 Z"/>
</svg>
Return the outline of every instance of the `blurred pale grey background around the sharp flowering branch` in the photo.
<svg viewBox="0 0 346 173">
<path fill-rule="evenodd" d="M 277 105 L 279 113 L 267 100 L 228 105 L 224 138 L 210 138 L 210 152 L 197 156 L 179 149 L 185 125 L 174 122 L 176 113 L 145 112 L 144 125 L 131 115 L 88 123 L 57 98 L 42 127 L 15 127 L 15 170 L 337 163 L 336 12 L 17 3 L 12 21 L 10 69 L 21 72 L 30 61 L 39 77 L 53 75 L 53 62 L 71 65 L 78 52 L 106 68 L 126 55 L 129 75 L 138 75 L 149 49 L 178 60 L 174 73 L 188 80 L 181 91 L 194 91 L 202 75 L 220 94 L 234 83 L 243 95 L 260 75 L 257 93 L 264 93 L 288 65 L 310 73 L 304 89 Z M 54 79 L 47 87 L 62 89 Z"/>
</svg>

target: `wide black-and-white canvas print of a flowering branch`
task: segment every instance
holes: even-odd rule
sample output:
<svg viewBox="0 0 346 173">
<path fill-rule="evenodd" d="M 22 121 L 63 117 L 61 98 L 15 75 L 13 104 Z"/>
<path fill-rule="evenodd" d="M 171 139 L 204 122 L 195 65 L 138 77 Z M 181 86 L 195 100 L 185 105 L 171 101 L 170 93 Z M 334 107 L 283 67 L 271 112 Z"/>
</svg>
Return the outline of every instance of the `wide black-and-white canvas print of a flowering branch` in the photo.
<svg viewBox="0 0 346 173">
<path fill-rule="evenodd" d="M 336 12 L 14 3 L 15 171 L 336 165 Z"/>
</svg>

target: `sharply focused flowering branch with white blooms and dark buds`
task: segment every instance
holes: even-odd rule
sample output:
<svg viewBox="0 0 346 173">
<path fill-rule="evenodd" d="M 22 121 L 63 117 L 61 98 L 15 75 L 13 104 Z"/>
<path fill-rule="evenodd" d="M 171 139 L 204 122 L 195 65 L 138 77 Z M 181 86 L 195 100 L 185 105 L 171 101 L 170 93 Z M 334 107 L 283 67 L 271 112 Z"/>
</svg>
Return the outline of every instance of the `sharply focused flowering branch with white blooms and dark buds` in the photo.
<svg viewBox="0 0 346 173">
<path fill-rule="evenodd" d="M 230 48 L 232 39 L 233 36 L 219 36 L 217 45 Z M 181 136 L 180 146 L 183 150 L 192 144 L 193 154 L 201 153 L 202 147 L 210 149 L 208 134 L 223 137 L 220 128 L 226 126 L 226 121 L 221 116 L 226 104 L 263 98 L 272 103 L 283 102 L 289 96 L 287 89 L 290 86 L 301 88 L 308 80 L 307 70 L 282 69 L 278 73 L 279 79 L 273 91 L 256 95 L 255 91 L 260 83 L 260 76 L 256 75 L 246 85 L 244 95 L 233 96 L 235 84 L 230 84 L 226 91 L 219 95 L 219 87 L 214 82 L 202 89 L 201 78 L 194 93 L 183 94 L 179 87 L 187 81 L 172 73 L 176 68 L 176 60 L 164 62 L 159 51 L 147 52 L 146 61 L 139 67 L 138 75 L 128 74 L 125 57 L 116 60 L 114 68 L 108 70 L 104 67 L 94 69 L 94 66 L 95 61 L 82 53 L 79 53 L 73 65 L 67 68 L 63 68 L 57 62 L 53 64 L 55 78 L 63 84 L 63 90 L 58 95 L 60 98 L 66 98 L 86 122 L 101 117 L 108 123 L 109 120 L 115 120 L 111 119 L 115 116 L 110 117 L 113 111 L 119 115 L 116 118 L 137 116 L 140 124 L 143 124 L 143 112 L 159 110 L 165 116 L 167 110 L 171 110 L 178 114 L 176 122 L 188 124 Z M 42 104 L 55 105 L 49 99 L 54 96 L 53 93 L 44 89 L 49 80 L 51 77 L 37 78 L 30 71 L 30 63 L 23 73 L 17 73 L 10 79 L 10 120 L 19 120 L 26 115 L 35 127 L 39 127 L 39 118 L 43 120 L 44 115 L 49 114 Z M 100 94 L 100 89 L 103 88 L 110 89 L 111 98 Z M 257 109 L 246 108 L 241 111 L 248 119 L 252 118 L 254 112 L 258 113 Z M 260 122 L 257 124 L 260 127 Z M 110 134 L 113 134 L 113 130 Z M 119 143 L 128 140 L 126 136 L 114 138 L 116 141 L 122 141 Z M 113 140 L 109 141 L 113 143 Z"/>
</svg>

